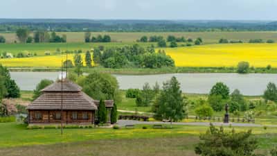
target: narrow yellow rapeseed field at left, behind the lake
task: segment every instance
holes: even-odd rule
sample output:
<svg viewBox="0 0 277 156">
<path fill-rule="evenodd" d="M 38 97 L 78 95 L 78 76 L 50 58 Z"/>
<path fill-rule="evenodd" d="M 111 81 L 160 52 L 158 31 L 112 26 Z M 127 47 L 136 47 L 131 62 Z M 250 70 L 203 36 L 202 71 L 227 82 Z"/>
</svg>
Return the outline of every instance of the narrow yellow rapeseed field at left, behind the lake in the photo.
<svg viewBox="0 0 277 156">
<path fill-rule="evenodd" d="M 68 60 L 73 62 L 73 56 L 73 54 L 69 54 Z M 50 55 L 33 58 L 7 58 L 0 59 L 0 64 L 7 67 L 61 67 L 62 60 L 66 60 L 66 55 Z M 84 54 L 82 54 L 82 60 L 85 65 Z"/>
</svg>

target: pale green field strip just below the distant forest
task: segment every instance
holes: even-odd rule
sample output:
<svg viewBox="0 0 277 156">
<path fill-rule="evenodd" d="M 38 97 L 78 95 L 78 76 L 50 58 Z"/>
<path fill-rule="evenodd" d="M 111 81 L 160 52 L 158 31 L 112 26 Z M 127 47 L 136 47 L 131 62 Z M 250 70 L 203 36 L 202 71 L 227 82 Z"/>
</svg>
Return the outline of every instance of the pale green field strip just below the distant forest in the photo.
<svg viewBox="0 0 277 156">
<path fill-rule="evenodd" d="M 59 35 L 66 34 L 68 42 L 84 42 L 84 33 L 69 33 L 62 32 L 57 33 Z M 163 37 L 167 37 L 168 35 L 175 35 L 178 37 L 184 36 L 186 38 L 197 38 L 202 37 L 204 40 L 204 44 L 215 44 L 220 40 L 220 38 L 226 38 L 229 40 L 242 40 L 244 42 L 249 42 L 250 39 L 262 39 L 262 40 L 276 40 L 277 41 L 277 33 L 274 31 L 268 32 L 168 32 L 168 33 L 91 33 L 93 36 L 96 35 L 110 35 L 111 40 L 113 42 L 136 42 L 136 40 L 140 39 L 143 35 L 148 37 L 152 35 L 161 35 Z M 6 37 L 7 42 L 14 42 L 17 40 L 15 33 L 0 33 Z"/>
</svg>

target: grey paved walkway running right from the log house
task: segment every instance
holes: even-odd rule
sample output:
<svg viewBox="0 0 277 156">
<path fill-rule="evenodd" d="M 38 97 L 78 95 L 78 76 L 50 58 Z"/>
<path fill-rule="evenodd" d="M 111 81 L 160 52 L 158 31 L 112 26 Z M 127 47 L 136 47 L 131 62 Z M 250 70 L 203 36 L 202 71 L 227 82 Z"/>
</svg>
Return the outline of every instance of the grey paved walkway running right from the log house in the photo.
<svg viewBox="0 0 277 156">
<path fill-rule="evenodd" d="M 154 125 L 154 124 L 166 124 L 170 125 L 169 122 L 161 122 L 161 121 L 135 121 L 135 120 L 118 120 L 117 123 L 119 126 L 125 125 L 137 125 L 137 124 L 145 124 L 145 125 Z M 229 125 L 238 126 L 238 127 L 262 127 L 263 125 L 255 124 L 255 123 L 220 123 L 220 122 L 213 122 L 213 125 Z M 172 123 L 172 125 L 206 125 L 209 126 L 210 123 L 208 122 L 189 122 L 189 123 Z M 268 127 L 277 127 L 277 125 L 267 125 Z"/>
</svg>

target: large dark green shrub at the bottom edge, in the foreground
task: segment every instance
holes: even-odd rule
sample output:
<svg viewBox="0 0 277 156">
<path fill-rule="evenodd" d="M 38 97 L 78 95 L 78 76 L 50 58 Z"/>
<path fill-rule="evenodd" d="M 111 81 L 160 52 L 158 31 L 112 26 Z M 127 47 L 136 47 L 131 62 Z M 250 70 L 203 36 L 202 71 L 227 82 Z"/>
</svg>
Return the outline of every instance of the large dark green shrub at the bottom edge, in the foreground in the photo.
<svg viewBox="0 0 277 156">
<path fill-rule="evenodd" d="M 202 156 L 251 156 L 258 147 L 258 141 L 247 132 L 224 131 L 223 127 L 215 128 L 211 124 L 209 130 L 200 135 L 200 142 L 195 146 L 195 153 Z"/>
</svg>

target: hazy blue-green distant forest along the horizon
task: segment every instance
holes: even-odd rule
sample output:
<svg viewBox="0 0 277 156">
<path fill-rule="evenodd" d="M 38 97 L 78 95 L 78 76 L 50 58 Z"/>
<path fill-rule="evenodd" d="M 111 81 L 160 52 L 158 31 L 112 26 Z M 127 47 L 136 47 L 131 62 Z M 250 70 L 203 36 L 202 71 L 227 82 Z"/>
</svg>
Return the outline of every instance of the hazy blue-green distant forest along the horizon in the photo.
<svg viewBox="0 0 277 156">
<path fill-rule="evenodd" d="M 2 33 L 13 33 L 22 27 L 62 32 L 277 31 L 277 21 L 0 19 Z"/>
</svg>

